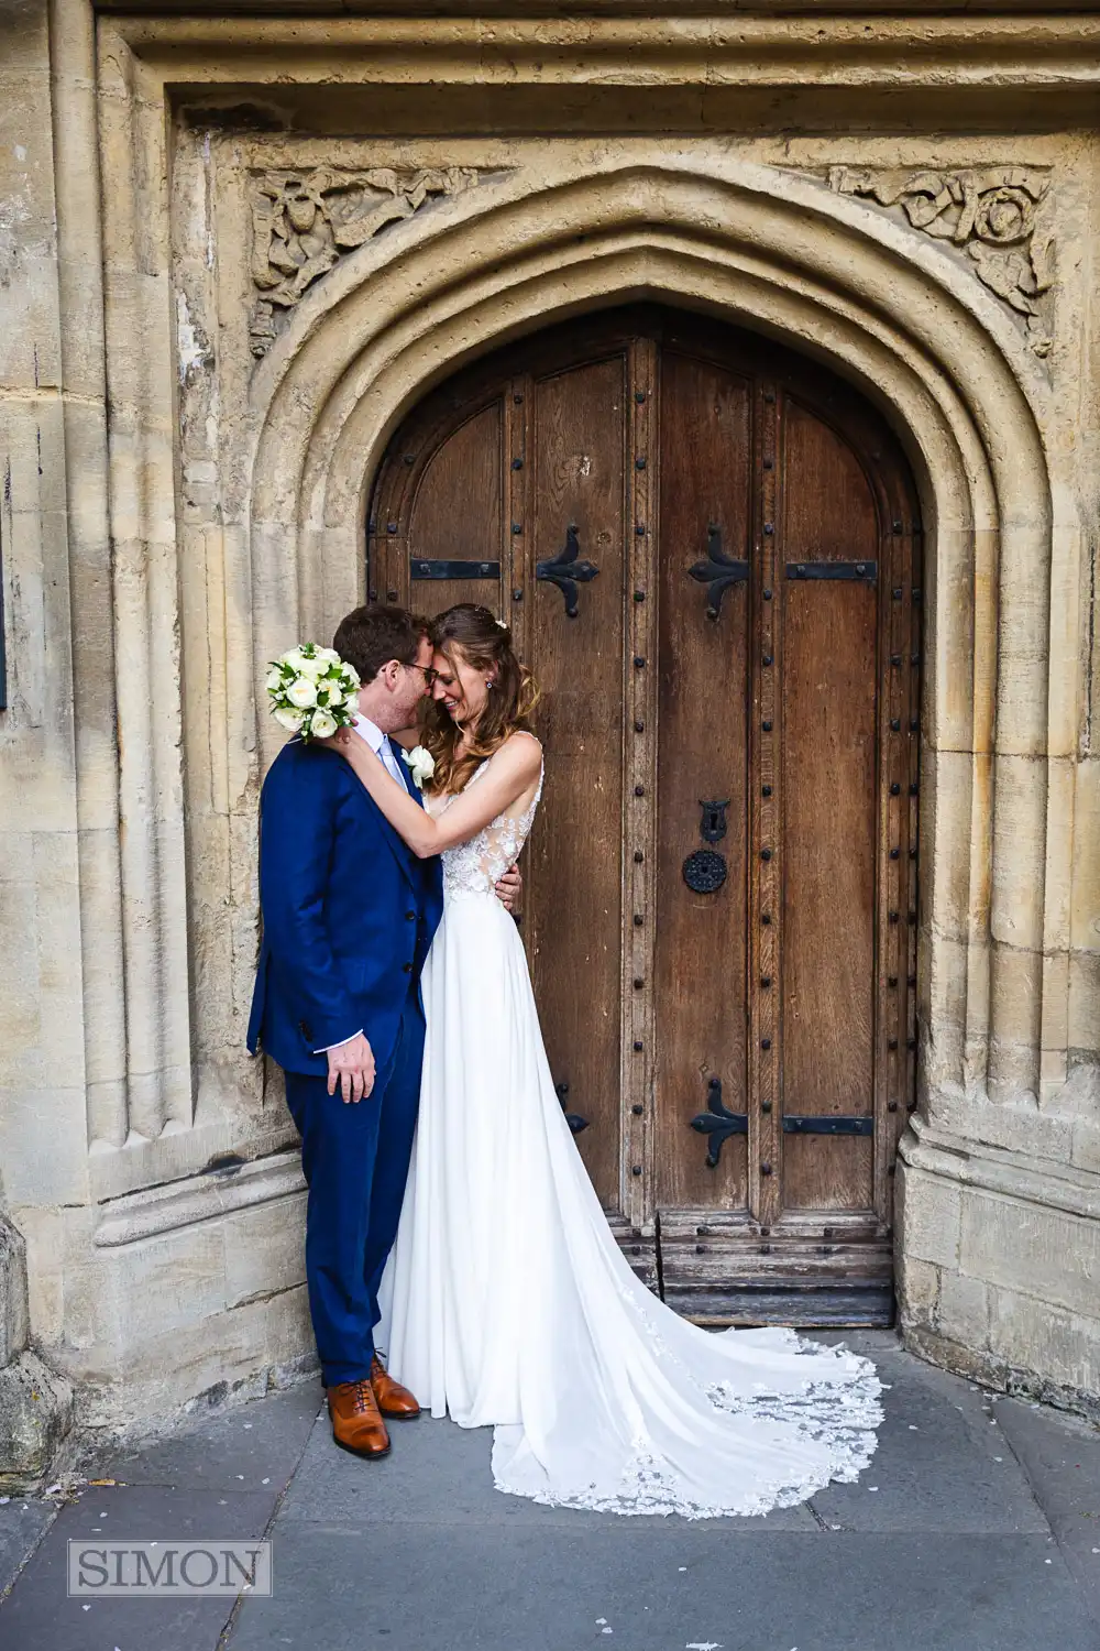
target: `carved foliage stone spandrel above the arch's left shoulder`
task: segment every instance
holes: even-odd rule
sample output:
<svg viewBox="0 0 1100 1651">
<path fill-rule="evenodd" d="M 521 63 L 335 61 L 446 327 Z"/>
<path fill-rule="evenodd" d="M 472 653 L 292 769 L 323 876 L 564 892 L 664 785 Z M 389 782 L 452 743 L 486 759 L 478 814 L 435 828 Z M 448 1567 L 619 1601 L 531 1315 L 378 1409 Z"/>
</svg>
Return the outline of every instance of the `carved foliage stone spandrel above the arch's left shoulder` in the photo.
<svg viewBox="0 0 1100 1651">
<path fill-rule="evenodd" d="M 252 185 L 252 282 L 264 294 L 252 310 L 252 355 L 275 338 L 275 305 L 290 309 L 343 253 L 386 225 L 412 218 L 432 195 L 462 195 L 477 183 L 470 167 L 368 172 L 266 172 Z"/>
</svg>

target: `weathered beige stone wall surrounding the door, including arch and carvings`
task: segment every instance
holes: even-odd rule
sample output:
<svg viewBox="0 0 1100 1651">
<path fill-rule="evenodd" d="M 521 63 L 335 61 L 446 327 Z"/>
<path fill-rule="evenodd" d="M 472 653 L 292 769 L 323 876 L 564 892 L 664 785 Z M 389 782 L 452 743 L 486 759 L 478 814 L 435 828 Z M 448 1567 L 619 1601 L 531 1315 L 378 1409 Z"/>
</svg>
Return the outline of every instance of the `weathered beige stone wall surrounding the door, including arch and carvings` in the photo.
<svg viewBox="0 0 1100 1651">
<path fill-rule="evenodd" d="M 470 10 L 5 13 L 0 1195 L 31 1341 L 101 1425 L 308 1360 L 294 1131 L 241 1047 L 261 667 L 363 598 L 419 395 L 651 296 L 830 362 L 912 459 L 902 1322 L 1087 1405 L 1100 23 Z"/>
</svg>

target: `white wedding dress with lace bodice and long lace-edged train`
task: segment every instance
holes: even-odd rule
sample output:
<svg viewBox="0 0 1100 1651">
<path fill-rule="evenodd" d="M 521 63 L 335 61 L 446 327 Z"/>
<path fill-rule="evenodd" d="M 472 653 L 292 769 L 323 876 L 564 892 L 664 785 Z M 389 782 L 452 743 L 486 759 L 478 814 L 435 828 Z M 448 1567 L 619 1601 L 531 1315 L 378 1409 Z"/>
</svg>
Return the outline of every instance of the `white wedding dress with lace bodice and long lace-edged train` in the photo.
<svg viewBox="0 0 1100 1651">
<path fill-rule="evenodd" d="M 538 1502 L 764 1514 L 854 1479 L 882 1420 L 866 1359 L 783 1329 L 703 1331 L 620 1255 L 493 893 L 536 807 L 444 854 L 421 1114 L 381 1296 L 389 1369 L 434 1417 L 491 1423 L 498 1489 Z"/>
</svg>

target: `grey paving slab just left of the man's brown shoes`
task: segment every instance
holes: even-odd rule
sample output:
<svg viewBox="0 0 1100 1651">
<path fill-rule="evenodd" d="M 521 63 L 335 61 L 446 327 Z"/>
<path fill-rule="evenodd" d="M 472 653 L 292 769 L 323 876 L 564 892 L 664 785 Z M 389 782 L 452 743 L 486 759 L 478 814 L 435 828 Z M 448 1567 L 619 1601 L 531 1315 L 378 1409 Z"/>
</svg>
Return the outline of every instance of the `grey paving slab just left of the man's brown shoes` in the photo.
<svg viewBox="0 0 1100 1651">
<path fill-rule="evenodd" d="M 191 1486 L 196 1491 L 282 1489 L 323 1405 L 320 1380 L 254 1398 L 206 1417 L 188 1417 L 172 1435 L 148 1440 L 99 1466 L 127 1484 Z M 97 1478 L 96 1468 L 86 1469 Z"/>
</svg>

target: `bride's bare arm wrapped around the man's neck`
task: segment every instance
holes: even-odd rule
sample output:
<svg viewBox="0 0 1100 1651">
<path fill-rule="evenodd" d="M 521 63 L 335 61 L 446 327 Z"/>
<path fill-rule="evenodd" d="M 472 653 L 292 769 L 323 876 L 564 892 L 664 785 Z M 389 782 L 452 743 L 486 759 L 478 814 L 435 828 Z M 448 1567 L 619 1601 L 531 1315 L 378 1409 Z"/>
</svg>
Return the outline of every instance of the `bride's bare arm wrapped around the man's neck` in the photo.
<svg viewBox="0 0 1100 1651">
<path fill-rule="evenodd" d="M 341 728 L 331 740 L 322 740 L 318 745 L 340 751 L 397 835 L 404 837 L 421 860 L 477 837 L 490 821 L 536 784 L 543 764 L 543 748 L 538 740 L 531 735 L 513 735 L 493 755 L 491 768 L 477 786 L 457 796 L 434 821 L 419 802 L 412 801 L 404 786 L 386 773 L 383 759 L 355 730 Z"/>
</svg>

